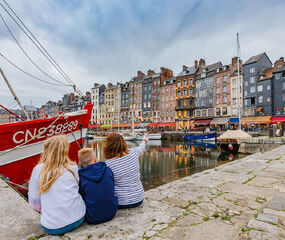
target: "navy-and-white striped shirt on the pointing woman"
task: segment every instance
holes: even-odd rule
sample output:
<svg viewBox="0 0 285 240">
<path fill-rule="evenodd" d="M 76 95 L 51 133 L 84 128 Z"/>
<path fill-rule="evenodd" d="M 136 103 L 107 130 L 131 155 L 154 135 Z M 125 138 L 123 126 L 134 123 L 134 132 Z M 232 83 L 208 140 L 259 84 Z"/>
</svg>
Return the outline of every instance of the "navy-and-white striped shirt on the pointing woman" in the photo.
<svg viewBox="0 0 285 240">
<path fill-rule="evenodd" d="M 140 180 L 139 157 L 145 149 L 145 144 L 131 148 L 129 153 L 120 158 L 106 161 L 114 173 L 115 195 L 119 205 L 129 205 L 144 199 L 144 190 Z"/>
</svg>

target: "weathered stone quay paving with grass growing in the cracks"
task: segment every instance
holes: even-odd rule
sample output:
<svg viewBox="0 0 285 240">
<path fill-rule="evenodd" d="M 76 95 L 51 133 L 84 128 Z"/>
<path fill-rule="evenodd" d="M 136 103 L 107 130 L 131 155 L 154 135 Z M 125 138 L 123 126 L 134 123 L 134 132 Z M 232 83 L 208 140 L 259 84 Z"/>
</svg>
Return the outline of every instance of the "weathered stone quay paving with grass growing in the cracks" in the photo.
<svg viewBox="0 0 285 240">
<path fill-rule="evenodd" d="M 282 146 L 182 178 L 108 223 L 40 239 L 285 239 L 284 153 Z"/>
</svg>

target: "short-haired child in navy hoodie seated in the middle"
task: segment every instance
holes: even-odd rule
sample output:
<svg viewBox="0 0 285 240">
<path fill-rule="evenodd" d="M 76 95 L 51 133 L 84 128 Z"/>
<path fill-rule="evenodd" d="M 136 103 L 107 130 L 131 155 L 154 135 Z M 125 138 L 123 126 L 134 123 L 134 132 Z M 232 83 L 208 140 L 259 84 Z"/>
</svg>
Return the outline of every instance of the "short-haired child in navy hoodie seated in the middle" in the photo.
<svg viewBox="0 0 285 240">
<path fill-rule="evenodd" d="M 114 218 L 118 198 L 114 194 L 114 175 L 105 162 L 97 162 L 92 148 L 78 152 L 82 168 L 79 170 L 79 192 L 86 204 L 85 220 L 99 224 Z"/>
</svg>

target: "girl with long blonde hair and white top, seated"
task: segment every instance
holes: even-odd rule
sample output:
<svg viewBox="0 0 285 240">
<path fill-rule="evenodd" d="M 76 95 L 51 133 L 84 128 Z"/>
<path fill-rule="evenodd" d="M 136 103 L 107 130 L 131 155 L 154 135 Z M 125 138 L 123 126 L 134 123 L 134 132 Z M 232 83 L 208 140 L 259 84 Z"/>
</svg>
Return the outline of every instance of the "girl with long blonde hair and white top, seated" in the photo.
<svg viewBox="0 0 285 240">
<path fill-rule="evenodd" d="M 49 234 L 64 234 L 79 227 L 85 204 L 78 193 L 78 167 L 68 158 L 64 135 L 47 139 L 29 183 L 29 203 L 41 211 L 42 228 Z"/>
</svg>

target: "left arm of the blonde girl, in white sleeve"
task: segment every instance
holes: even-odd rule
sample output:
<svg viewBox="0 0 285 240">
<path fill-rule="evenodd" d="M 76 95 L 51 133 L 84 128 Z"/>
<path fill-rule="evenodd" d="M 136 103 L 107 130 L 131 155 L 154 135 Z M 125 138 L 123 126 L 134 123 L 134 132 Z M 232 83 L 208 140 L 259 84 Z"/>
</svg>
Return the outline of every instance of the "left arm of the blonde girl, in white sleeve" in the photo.
<svg viewBox="0 0 285 240">
<path fill-rule="evenodd" d="M 29 204 L 37 212 L 41 211 L 41 197 L 39 194 L 39 169 L 35 167 L 29 182 Z"/>
</svg>

